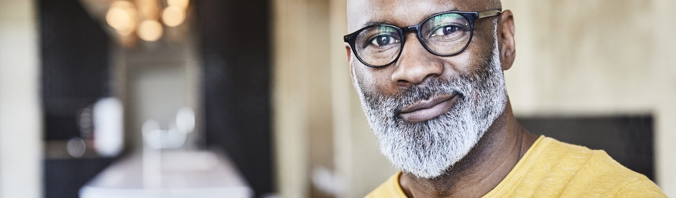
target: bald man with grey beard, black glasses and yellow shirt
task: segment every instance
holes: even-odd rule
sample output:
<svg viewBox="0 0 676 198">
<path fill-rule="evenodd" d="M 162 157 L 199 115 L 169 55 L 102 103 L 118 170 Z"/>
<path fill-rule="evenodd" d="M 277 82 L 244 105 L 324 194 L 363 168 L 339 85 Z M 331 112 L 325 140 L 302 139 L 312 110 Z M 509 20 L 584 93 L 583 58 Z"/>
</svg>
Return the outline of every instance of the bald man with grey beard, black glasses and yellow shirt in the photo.
<svg viewBox="0 0 676 198">
<path fill-rule="evenodd" d="M 349 0 L 343 38 L 381 152 L 402 172 L 366 197 L 665 197 L 604 151 L 536 137 L 503 71 L 514 18 L 499 0 Z"/>
</svg>

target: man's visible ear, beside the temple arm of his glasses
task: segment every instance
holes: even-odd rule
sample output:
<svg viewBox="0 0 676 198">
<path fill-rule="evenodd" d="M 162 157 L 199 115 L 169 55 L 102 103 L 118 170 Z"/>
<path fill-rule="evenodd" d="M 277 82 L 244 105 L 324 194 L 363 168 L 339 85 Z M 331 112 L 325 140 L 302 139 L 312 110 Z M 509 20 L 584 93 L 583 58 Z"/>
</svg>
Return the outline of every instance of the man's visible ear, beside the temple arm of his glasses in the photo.
<svg viewBox="0 0 676 198">
<path fill-rule="evenodd" d="M 500 62 L 502 70 L 509 70 L 516 58 L 514 43 L 514 14 L 509 9 L 502 11 L 498 20 L 498 47 L 500 48 Z"/>
</svg>

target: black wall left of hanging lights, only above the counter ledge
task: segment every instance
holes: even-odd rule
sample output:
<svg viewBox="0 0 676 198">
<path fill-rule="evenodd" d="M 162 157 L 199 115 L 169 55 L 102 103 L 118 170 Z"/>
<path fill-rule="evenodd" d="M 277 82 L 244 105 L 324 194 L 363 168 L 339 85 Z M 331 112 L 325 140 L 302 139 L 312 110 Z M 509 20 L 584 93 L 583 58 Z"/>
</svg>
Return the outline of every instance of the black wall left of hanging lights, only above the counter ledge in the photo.
<svg viewBox="0 0 676 198">
<path fill-rule="evenodd" d="M 41 0 L 45 139 L 79 137 L 77 112 L 108 93 L 108 38 L 77 0 Z"/>
</svg>

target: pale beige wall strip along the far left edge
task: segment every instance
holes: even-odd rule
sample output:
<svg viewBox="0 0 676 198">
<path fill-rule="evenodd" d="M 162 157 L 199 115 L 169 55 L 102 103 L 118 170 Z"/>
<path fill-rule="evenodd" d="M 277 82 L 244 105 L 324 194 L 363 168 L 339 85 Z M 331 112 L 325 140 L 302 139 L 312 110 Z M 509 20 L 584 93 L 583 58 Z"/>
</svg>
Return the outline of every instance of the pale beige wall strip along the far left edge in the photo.
<svg viewBox="0 0 676 198">
<path fill-rule="evenodd" d="M 42 196 L 37 12 L 0 0 L 0 197 Z"/>
</svg>

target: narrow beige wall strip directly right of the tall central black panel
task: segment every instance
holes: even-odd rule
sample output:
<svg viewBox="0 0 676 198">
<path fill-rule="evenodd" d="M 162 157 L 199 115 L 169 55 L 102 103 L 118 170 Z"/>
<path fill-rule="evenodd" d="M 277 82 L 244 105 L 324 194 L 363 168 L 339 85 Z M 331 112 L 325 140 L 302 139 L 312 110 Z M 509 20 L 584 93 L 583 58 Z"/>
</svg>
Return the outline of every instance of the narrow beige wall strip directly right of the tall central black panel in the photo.
<svg viewBox="0 0 676 198">
<path fill-rule="evenodd" d="M 272 1 L 272 122 L 276 190 L 281 197 L 308 197 L 307 5 Z"/>
</svg>

